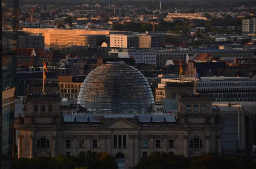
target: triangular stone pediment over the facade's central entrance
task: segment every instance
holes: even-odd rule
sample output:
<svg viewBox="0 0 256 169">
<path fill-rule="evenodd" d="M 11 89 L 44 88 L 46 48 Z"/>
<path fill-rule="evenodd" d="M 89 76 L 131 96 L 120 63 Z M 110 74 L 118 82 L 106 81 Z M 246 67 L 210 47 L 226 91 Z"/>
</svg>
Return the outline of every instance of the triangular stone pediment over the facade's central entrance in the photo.
<svg viewBox="0 0 256 169">
<path fill-rule="evenodd" d="M 118 117 L 110 122 L 100 126 L 103 129 L 141 129 L 140 126 L 126 120 L 125 118 Z"/>
</svg>

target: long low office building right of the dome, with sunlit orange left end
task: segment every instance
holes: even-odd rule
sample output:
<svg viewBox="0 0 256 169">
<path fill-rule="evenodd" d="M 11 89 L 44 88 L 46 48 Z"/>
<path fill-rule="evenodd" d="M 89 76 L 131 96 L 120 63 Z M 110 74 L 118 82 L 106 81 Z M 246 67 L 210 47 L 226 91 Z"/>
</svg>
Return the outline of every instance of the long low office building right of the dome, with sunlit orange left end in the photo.
<svg viewBox="0 0 256 169">
<path fill-rule="evenodd" d="M 194 77 L 183 77 L 181 79 L 183 84 L 180 84 L 180 88 L 186 86 L 187 90 L 192 91 L 194 84 L 190 86 L 184 83 L 193 81 Z M 162 79 L 156 89 L 160 91 L 155 94 L 157 101 L 162 98 L 172 98 L 172 90 L 175 88 L 169 86 L 175 83 L 180 83 L 180 81 Z M 201 81 L 196 82 L 196 92 L 210 93 L 215 101 L 256 101 L 256 80 L 251 80 L 250 77 L 201 77 Z"/>
</svg>

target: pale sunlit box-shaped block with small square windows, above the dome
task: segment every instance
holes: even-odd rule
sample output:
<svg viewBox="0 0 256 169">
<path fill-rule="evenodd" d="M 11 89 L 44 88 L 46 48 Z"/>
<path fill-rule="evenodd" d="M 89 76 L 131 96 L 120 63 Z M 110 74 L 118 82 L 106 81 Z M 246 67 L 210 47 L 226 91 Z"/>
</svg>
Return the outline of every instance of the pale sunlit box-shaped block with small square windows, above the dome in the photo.
<svg viewBox="0 0 256 169">
<path fill-rule="evenodd" d="M 135 35 L 118 35 L 111 34 L 110 35 L 110 47 L 119 47 L 119 48 L 135 48 Z"/>
</svg>

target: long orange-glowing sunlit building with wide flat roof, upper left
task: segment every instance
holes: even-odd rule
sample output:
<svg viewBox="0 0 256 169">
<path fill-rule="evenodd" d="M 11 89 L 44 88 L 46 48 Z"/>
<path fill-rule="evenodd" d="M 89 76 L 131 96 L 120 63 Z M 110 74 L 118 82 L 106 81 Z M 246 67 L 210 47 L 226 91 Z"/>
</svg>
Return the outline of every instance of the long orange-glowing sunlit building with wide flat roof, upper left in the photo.
<svg viewBox="0 0 256 169">
<path fill-rule="evenodd" d="M 101 46 L 104 36 L 109 34 L 132 34 L 131 31 L 91 31 L 82 29 L 33 29 L 24 28 L 23 31 L 41 33 L 44 36 L 46 48 L 59 49 L 68 45 Z M 99 36 L 99 42 L 97 38 Z M 71 40 L 70 40 L 71 39 Z"/>
</svg>

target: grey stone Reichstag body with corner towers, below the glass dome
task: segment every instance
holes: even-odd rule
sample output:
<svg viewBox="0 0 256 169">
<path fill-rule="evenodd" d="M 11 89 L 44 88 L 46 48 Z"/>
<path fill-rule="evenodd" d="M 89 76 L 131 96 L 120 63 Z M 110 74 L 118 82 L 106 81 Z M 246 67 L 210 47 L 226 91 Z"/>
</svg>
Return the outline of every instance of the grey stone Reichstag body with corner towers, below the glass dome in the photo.
<svg viewBox="0 0 256 169">
<path fill-rule="evenodd" d="M 215 150 L 221 152 L 222 126 L 218 113 L 212 111 L 212 97 L 207 94 L 180 94 L 177 97 L 179 112 L 174 121 L 167 120 L 171 115 L 141 115 L 151 116 L 150 120 L 139 120 L 139 114 L 133 117 L 94 114 L 91 116 L 98 121 L 90 120 L 89 116 L 87 121 L 82 121 L 85 115 L 76 115 L 71 116 L 74 117 L 71 122 L 59 113 L 58 95 L 48 93 L 40 99 L 36 95 L 27 92 L 24 117 L 15 123 L 18 158 L 76 156 L 87 150 L 109 152 L 115 157 L 121 152 L 128 169 L 155 151 L 186 157 Z M 55 107 L 52 112 L 49 109 L 41 113 L 34 111 L 38 102 L 47 101 Z M 157 120 L 159 118 L 162 120 Z"/>
</svg>

